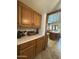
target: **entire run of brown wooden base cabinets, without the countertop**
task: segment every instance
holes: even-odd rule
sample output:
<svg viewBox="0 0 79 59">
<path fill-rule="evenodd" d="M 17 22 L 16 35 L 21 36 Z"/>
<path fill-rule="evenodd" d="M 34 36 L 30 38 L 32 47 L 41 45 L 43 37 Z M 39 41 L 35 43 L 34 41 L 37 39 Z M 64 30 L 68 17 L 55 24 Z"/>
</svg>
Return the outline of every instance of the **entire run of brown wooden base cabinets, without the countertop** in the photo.
<svg viewBox="0 0 79 59">
<path fill-rule="evenodd" d="M 45 36 L 23 43 L 17 46 L 17 59 L 34 59 L 36 55 L 45 50 L 46 46 L 47 40 Z"/>
</svg>

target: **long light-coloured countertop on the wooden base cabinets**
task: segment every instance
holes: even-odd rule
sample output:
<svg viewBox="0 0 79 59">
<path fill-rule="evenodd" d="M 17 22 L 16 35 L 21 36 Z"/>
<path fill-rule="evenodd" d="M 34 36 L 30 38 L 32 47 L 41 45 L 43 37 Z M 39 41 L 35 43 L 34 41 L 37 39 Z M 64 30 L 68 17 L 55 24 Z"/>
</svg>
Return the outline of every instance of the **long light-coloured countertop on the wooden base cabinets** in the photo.
<svg viewBox="0 0 79 59">
<path fill-rule="evenodd" d="M 17 39 L 17 45 L 20 45 L 22 43 L 25 43 L 25 42 L 28 42 L 28 41 L 31 41 L 31 40 L 34 40 L 34 39 L 37 39 L 39 37 L 42 37 L 44 36 L 43 34 L 36 34 L 36 35 L 33 35 L 33 36 L 24 36 L 24 37 L 21 37 L 20 39 Z"/>
</svg>

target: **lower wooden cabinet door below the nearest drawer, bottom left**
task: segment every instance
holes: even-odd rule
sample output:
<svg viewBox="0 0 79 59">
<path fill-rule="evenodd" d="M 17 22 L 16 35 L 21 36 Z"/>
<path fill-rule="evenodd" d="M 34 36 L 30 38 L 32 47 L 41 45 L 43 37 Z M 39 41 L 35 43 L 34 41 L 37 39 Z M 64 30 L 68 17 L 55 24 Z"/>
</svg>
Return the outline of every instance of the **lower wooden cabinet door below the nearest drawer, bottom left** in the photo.
<svg viewBox="0 0 79 59">
<path fill-rule="evenodd" d="M 33 59 L 35 56 L 35 46 L 30 46 L 20 51 L 20 56 L 27 59 Z"/>
</svg>

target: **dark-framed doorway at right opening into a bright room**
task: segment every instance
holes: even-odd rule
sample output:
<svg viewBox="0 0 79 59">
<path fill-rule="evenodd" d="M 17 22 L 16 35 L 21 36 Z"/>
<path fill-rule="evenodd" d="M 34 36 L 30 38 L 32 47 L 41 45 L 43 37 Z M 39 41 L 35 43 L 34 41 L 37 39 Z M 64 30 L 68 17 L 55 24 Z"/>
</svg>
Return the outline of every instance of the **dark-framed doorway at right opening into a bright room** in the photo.
<svg viewBox="0 0 79 59">
<path fill-rule="evenodd" d="M 48 46 L 61 57 L 61 10 L 47 14 Z"/>
</svg>

